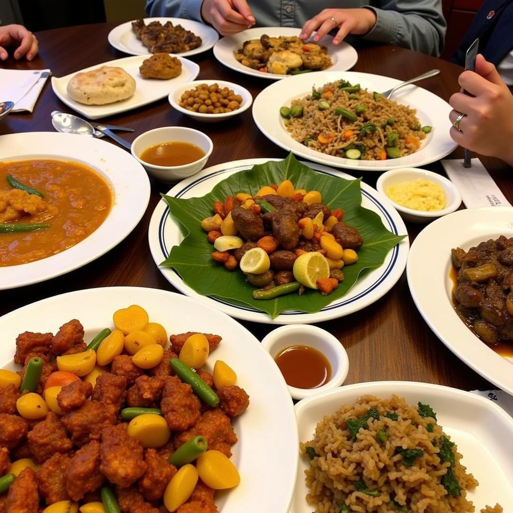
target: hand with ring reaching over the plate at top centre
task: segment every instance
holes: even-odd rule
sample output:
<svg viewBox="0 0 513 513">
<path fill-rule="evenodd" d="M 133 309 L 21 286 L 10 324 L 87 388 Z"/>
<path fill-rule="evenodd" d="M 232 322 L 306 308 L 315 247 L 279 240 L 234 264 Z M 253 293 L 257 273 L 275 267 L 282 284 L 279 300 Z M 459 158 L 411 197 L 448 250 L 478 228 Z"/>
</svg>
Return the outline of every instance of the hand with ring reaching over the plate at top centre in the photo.
<svg viewBox="0 0 513 513">
<path fill-rule="evenodd" d="M 333 38 L 333 43 L 338 45 L 347 34 L 363 35 L 369 32 L 376 25 L 376 19 L 372 9 L 324 9 L 303 25 L 299 37 L 306 40 L 316 30 L 313 41 L 318 42 L 338 27 L 339 31 Z"/>
</svg>

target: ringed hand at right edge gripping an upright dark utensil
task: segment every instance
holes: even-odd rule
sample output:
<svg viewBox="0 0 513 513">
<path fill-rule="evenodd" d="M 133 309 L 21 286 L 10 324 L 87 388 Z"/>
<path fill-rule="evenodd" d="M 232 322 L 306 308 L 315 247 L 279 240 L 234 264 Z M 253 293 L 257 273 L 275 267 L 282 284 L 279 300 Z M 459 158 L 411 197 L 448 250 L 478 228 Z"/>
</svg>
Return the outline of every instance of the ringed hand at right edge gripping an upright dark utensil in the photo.
<svg viewBox="0 0 513 513">
<path fill-rule="evenodd" d="M 476 72 L 464 71 L 458 78 L 463 92 L 449 99 L 455 109 L 449 114 L 453 123 L 465 114 L 459 130 L 451 127 L 450 136 L 460 146 L 486 156 L 495 156 L 513 166 L 513 95 L 495 66 L 479 54 Z"/>
</svg>

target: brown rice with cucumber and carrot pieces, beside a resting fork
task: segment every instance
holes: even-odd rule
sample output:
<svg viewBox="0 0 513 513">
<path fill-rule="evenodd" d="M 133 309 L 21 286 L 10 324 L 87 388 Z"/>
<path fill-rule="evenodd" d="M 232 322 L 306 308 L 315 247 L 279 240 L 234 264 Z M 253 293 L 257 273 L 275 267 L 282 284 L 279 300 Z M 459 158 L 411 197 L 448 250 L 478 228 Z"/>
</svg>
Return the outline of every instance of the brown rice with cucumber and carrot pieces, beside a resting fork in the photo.
<svg viewBox="0 0 513 513">
<path fill-rule="evenodd" d="M 431 131 L 421 125 L 415 109 L 345 80 L 312 88 L 280 113 L 293 139 L 348 159 L 386 160 L 415 153 Z"/>
</svg>

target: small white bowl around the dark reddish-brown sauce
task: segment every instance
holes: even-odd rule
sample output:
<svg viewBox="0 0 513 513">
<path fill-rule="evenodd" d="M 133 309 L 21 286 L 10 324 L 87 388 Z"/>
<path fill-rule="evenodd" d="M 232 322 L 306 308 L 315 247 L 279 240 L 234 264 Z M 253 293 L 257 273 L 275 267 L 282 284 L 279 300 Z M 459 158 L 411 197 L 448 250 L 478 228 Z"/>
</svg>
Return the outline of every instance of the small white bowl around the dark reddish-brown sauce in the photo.
<svg viewBox="0 0 513 513">
<path fill-rule="evenodd" d="M 282 349 L 298 344 L 313 347 L 324 354 L 331 366 L 331 378 L 317 388 L 295 388 L 287 385 L 292 399 L 304 399 L 344 383 L 349 371 L 347 352 L 342 343 L 324 329 L 310 324 L 291 324 L 272 330 L 262 341 L 262 346 L 273 359 Z"/>
</svg>

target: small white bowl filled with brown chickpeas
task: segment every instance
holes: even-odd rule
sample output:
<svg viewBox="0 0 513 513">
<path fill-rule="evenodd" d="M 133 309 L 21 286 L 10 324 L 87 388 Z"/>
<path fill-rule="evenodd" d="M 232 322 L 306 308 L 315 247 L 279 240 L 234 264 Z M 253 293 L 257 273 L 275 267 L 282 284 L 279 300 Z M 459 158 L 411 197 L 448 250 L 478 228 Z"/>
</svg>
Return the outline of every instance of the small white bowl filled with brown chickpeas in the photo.
<svg viewBox="0 0 513 513">
<path fill-rule="evenodd" d="M 223 80 L 195 80 L 180 84 L 168 96 L 171 106 L 192 119 L 216 123 L 249 109 L 251 93 Z"/>
</svg>

